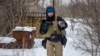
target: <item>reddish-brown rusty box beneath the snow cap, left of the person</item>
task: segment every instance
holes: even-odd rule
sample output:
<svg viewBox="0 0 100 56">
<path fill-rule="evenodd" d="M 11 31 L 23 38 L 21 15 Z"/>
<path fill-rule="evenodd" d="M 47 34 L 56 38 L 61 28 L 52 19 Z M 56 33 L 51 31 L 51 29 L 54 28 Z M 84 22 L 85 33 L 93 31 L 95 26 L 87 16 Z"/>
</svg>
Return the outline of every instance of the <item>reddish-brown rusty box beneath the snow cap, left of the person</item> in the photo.
<svg viewBox="0 0 100 56">
<path fill-rule="evenodd" d="M 22 48 L 30 48 L 34 44 L 34 31 L 13 31 L 13 37 L 17 40 L 17 42 L 21 42 Z"/>
</svg>

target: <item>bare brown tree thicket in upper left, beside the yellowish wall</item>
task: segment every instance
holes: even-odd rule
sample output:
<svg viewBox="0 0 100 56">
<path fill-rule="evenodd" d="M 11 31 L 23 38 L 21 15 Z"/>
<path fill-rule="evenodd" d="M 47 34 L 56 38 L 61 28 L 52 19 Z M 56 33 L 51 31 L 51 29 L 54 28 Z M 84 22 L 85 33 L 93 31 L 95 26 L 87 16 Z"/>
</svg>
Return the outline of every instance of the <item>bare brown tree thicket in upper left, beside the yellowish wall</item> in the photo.
<svg viewBox="0 0 100 56">
<path fill-rule="evenodd" d="M 0 35 L 9 35 L 15 26 L 18 26 L 21 22 L 24 12 L 34 12 L 37 10 L 39 0 L 0 0 L 0 20 L 2 23 L 0 29 Z M 37 9 L 36 9 L 37 8 Z M 39 11 L 39 10 L 38 10 Z"/>
</svg>

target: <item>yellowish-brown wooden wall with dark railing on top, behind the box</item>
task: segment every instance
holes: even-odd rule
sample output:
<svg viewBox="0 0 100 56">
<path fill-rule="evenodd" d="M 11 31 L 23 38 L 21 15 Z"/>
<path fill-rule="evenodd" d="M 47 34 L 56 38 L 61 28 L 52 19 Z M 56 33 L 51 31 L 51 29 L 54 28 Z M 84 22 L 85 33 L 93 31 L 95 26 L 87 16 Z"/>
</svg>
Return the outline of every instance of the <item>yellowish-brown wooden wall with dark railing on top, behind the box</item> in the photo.
<svg viewBox="0 0 100 56">
<path fill-rule="evenodd" d="M 40 38 L 41 34 L 39 33 L 41 21 L 45 19 L 45 12 L 24 12 L 23 18 L 21 19 L 21 26 L 31 26 L 36 27 L 34 32 L 34 38 Z"/>
</svg>

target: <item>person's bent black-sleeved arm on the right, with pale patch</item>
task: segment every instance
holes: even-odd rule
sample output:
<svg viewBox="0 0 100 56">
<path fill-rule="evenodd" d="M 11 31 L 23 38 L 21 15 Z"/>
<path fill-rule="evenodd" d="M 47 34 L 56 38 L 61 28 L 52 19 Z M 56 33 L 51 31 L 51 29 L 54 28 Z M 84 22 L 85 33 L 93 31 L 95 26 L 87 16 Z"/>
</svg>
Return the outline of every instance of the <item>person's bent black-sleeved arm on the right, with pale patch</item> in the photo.
<svg viewBox="0 0 100 56">
<path fill-rule="evenodd" d="M 58 21 L 58 29 L 64 30 L 68 27 L 68 24 L 64 21 L 62 17 L 58 16 L 57 21 Z"/>
</svg>

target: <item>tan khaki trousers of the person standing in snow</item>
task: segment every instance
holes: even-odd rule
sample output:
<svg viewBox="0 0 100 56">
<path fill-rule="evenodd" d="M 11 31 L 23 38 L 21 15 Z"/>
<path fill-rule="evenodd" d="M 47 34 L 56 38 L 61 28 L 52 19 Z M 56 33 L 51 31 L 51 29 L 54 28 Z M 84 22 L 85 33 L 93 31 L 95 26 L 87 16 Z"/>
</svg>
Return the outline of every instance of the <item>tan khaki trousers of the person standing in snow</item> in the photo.
<svg viewBox="0 0 100 56">
<path fill-rule="evenodd" d="M 47 40 L 47 56 L 63 56 L 63 46 L 60 41 L 52 42 Z"/>
</svg>

